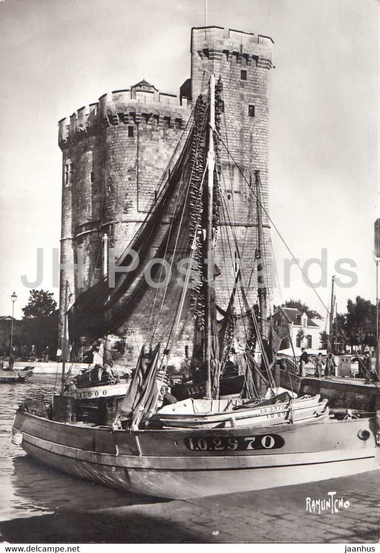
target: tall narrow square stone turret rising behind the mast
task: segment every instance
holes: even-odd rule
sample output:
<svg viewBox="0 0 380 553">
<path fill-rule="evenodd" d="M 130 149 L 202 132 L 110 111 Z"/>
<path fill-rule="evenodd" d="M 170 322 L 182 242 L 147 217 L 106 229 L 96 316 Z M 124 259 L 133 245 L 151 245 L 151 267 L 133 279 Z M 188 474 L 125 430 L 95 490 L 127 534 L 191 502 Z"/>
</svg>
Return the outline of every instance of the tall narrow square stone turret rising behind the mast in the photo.
<svg viewBox="0 0 380 553">
<path fill-rule="evenodd" d="M 205 71 L 222 81 L 224 113 L 220 126 L 220 163 L 223 205 L 228 210 L 235 228 L 239 252 L 247 278 L 253 267 L 258 248 L 254 171 L 260 171 L 260 201 L 263 204 L 264 252 L 262 257 L 272 258 L 269 237 L 268 212 L 268 127 L 269 69 L 272 67 L 273 40 L 268 36 L 244 33 L 220 27 L 192 29 L 191 40 L 191 93 L 193 101 L 207 93 Z M 228 151 L 227 151 L 228 148 Z M 224 178 L 223 178 L 224 175 Z M 251 187 L 248 182 L 250 182 Z M 220 221 L 223 225 L 223 220 Z M 235 247 L 232 246 L 234 249 Z M 217 248 L 215 255 L 225 255 Z M 239 261 L 238 261 L 239 262 Z M 266 264 L 268 274 L 273 268 Z M 232 268 L 228 270 L 228 289 L 234 281 Z M 269 294 L 271 283 L 269 281 Z M 228 289 L 220 286 L 220 301 L 225 301 Z M 250 301 L 257 297 L 250 295 Z"/>
</svg>

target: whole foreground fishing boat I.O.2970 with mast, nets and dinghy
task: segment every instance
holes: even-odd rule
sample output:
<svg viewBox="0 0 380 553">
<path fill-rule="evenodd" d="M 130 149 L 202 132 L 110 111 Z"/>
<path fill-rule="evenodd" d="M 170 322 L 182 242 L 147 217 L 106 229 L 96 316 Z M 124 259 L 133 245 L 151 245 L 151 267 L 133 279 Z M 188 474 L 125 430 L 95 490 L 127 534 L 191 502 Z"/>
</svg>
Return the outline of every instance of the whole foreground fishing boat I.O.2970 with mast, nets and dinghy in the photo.
<svg viewBox="0 0 380 553">
<path fill-rule="evenodd" d="M 214 248 L 219 209 L 224 210 L 223 220 L 240 259 L 220 185 L 221 90 L 222 83 L 210 75 L 209 96 L 198 98 L 176 166 L 131 242 L 140 259 L 165 257 L 169 264 L 181 255 L 189 259 L 178 295 L 162 290 L 162 303 L 153 314 L 156 320 L 171 317 L 171 325 L 163 325 L 167 339 L 161 347 L 157 325 L 152 324 L 151 341 L 141 348 L 121 403 L 102 398 L 85 416 L 76 410 L 75 399 L 64 395 L 53 397 L 51 411 L 42 401 L 20 406 L 13 422 L 14 442 L 47 465 L 128 492 L 165 498 L 315 482 L 380 466 L 380 414 L 337 419 L 318 396 L 285 398 L 276 389 L 272 369 L 280 341 L 267 322 L 267 290 L 258 286 L 255 305 L 250 279 L 236 259 L 229 304 L 217 316 Z M 260 207 L 260 227 L 259 171 L 255 184 L 251 191 Z M 172 213 L 170 227 L 165 233 L 159 229 L 160 236 L 157 218 L 167 210 Z M 125 265 L 125 259 L 120 263 Z M 263 267 L 259 260 L 260 279 Z M 197 282 L 189 286 L 193 280 Z M 75 302 L 70 336 L 83 336 L 84 326 L 93 340 L 107 336 L 136 310 L 140 315 L 142 296 L 151 297 L 155 305 L 157 294 L 145 283 L 143 267 L 119 273 L 113 290 L 104 281 Z M 205 398 L 188 398 L 157 410 L 158 382 L 176 349 L 181 325 L 189 328 L 189 320 L 194 334 L 192 368 L 204 373 Z M 240 356 L 244 375 L 242 400 L 220 399 L 220 375 L 235 355 Z"/>
</svg>

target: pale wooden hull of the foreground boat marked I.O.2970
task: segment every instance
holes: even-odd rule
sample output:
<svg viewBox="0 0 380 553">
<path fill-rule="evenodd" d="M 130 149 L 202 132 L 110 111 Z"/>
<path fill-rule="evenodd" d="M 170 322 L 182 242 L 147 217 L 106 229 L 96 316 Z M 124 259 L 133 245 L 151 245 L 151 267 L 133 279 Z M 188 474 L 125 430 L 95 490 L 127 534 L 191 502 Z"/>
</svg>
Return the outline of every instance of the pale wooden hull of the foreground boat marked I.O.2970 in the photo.
<svg viewBox="0 0 380 553">
<path fill-rule="evenodd" d="M 37 460 L 81 478 L 183 499 L 315 482 L 379 468 L 375 419 L 279 428 L 126 430 L 17 411 L 14 437 Z M 360 437 L 361 436 L 361 437 Z"/>
</svg>

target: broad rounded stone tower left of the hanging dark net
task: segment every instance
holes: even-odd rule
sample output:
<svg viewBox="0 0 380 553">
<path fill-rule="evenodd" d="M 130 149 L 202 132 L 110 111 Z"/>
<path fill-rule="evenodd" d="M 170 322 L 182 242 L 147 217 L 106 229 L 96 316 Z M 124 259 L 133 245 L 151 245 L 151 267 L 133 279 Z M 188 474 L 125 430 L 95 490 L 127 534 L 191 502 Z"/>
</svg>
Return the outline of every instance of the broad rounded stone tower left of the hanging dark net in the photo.
<svg viewBox="0 0 380 553">
<path fill-rule="evenodd" d="M 71 300 L 102 278 L 102 237 L 125 247 L 154 204 L 183 133 L 187 102 L 141 81 L 59 121 L 63 152 L 60 325 Z M 71 266 L 83 255 L 83 281 Z M 62 335 L 60 330 L 60 336 Z"/>
</svg>

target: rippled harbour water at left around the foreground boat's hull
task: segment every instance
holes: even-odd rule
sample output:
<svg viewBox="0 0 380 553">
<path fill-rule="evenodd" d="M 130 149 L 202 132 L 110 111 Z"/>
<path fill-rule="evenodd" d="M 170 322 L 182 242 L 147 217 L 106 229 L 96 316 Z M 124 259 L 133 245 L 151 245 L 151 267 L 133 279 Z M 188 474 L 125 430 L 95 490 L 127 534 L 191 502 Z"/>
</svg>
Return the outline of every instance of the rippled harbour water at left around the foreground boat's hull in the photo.
<svg viewBox="0 0 380 553">
<path fill-rule="evenodd" d="M 2 384 L 0 413 L 0 520 L 34 517 L 69 509 L 111 508 L 156 502 L 157 499 L 120 492 L 50 469 L 25 455 L 12 444 L 12 421 L 17 406 L 25 399 L 48 402 L 57 379 L 33 376 L 25 384 Z M 59 385 L 59 383 L 58 383 Z M 89 505 L 89 498 L 91 504 Z"/>
</svg>

